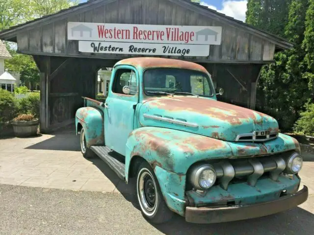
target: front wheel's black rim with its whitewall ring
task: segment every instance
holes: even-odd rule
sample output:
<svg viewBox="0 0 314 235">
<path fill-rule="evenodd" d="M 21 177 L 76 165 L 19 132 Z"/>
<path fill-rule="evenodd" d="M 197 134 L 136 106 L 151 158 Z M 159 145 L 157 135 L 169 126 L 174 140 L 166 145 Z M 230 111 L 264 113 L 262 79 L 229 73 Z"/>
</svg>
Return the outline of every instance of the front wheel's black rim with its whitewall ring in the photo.
<svg viewBox="0 0 314 235">
<path fill-rule="evenodd" d="M 146 211 L 154 211 L 156 208 L 156 185 L 149 172 L 143 172 L 138 182 L 138 191 L 141 204 Z"/>
</svg>

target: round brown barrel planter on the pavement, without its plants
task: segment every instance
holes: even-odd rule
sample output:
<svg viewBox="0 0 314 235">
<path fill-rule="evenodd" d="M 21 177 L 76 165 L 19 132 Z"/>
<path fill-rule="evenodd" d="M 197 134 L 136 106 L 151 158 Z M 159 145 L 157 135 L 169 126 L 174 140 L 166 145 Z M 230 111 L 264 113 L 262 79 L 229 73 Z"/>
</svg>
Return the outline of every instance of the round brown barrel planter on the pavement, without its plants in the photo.
<svg viewBox="0 0 314 235">
<path fill-rule="evenodd" d="M 17 137 L 37 135 L 38 119 L 32 121 L 12 121 L 13 130 Z"/>
</svg>

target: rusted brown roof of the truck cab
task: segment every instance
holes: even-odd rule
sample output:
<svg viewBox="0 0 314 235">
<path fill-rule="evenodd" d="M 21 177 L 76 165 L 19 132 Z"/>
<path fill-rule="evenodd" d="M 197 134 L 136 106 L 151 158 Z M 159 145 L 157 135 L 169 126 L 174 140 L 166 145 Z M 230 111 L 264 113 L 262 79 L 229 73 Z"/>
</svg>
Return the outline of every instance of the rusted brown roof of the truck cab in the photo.
<svg viewBox="0 0 314 235">
<path fill-rule="evenodd" d="M 124 59 L 116 63 L 114 67 L 118 65 L 131 65 L 138 70 L 145 70 L 148 68 L 178 68 L 208 73 L 208 71 L 203 66 L 196 63 L 157 57 L 134 57 Z"/>
</svg>

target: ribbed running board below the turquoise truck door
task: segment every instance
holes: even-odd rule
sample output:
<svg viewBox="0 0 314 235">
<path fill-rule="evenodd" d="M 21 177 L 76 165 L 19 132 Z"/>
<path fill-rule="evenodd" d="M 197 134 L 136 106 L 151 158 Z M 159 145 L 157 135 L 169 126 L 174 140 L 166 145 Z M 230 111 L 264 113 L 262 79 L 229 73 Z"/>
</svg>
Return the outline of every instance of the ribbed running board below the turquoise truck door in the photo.
<svg viewBox="0 0 314 235">
<path fill-rule="evenodd" d="M 97 154 L 120 179 L 125 179 L 125 166 L 122 155 L 116 153 L 106 146 L 91 146 L 90 149 Z"/>
</svg>

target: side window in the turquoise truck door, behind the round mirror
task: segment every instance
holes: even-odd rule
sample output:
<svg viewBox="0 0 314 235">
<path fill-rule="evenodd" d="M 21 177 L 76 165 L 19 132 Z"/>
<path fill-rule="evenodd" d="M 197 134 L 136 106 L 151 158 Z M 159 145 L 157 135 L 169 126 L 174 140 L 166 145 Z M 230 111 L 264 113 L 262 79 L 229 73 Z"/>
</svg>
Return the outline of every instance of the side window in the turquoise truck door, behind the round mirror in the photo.
<svg viewBox="0 0 314 235">
<path fill-rule="evenodd" d="M 120 69 L 116 71 L 112 92 L 117 94 L 123 93 L 123 87 L 128 86 L 130 88 L 129 95 L 137 93 L 136 74 L 132 70 Z"/>
</svg>

